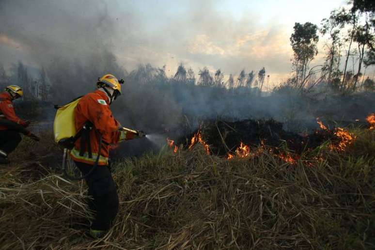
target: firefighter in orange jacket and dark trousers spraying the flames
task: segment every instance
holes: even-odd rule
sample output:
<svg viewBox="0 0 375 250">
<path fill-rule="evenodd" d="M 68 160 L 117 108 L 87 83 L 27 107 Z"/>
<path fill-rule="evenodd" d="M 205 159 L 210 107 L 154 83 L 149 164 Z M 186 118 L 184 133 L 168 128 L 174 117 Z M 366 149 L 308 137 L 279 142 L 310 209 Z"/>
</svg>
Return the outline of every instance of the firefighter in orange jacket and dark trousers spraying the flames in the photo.
<svg viewBox="0 0 375 250">
<path fill-rule="evenodd" d="M 103 236 L 110 229 L 119 207 L 116 185 L 108 166 L 110 144 L 144 136 L 141 131 L 120 131 L 121 125 L 109 109 L 109 105 L 121 94 L 119 80 L 113 75 L 104 75 L 96 85 L 96 91 L 84 95 L 78 101 L 74 113 L 77 131 L 87 121 L 93 125 L 89 132 L 90 143 L 85 146 L 85 143 L 81 143 L 83 138 L 80 138 L 70 152 L 83 176 L 90 172 L 99 157 L 93 172 L 85 177 L 89 195 L 93 197 L 89 207 L 96 212 L 90 227 L 90 235 L 94 238 Z"/>
</svg>

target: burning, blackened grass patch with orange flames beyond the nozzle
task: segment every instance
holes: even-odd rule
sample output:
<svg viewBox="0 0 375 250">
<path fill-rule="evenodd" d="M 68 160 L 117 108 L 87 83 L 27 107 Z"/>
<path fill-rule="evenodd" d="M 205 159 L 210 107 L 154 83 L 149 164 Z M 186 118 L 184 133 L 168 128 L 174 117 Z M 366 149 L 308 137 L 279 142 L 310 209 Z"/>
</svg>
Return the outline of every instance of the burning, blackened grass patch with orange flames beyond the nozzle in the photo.
<svg viewBox="0 0 375 250">
<path fill-rule="evenodd" d="M 284 131 L 282 124 L 274 120 L 209 121 L 190 135 L 190 140 L 189 137 L 182 137 L 178 141 L 181 142 L 180 147 L 185 146 L 189 150 L 199 142 L 207 155 L 213 153 L 227 159 L 257 157 L 267 151 L 285 162 L 295 164 L 300 155 L 309 155 L 322 144 L 328 143 L 331 151 L 344 151 L 356 140 L 356 136 L 344 128 L 331 130 L 319 118 L 316 118 L 316 122 L 319 129 L 311 134 L 299 135 Z M 178 146 L 174 141 L 167 139 L 167 144 L 177 153 Z"/>
</svg>

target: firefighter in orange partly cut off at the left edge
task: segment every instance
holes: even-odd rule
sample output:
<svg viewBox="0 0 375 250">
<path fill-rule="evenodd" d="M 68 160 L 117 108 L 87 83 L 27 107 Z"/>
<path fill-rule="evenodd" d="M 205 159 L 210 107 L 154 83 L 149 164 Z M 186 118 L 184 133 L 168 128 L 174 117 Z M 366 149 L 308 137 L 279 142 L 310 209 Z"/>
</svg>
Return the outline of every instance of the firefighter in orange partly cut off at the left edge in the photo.
<svg viewBox="0 0 375 250">
<path fill-rule="evenodd" d="M 7 119 L 27 127 L 30 121 L 23 121 L 19 119 L 13 108 L 12 101 L 22 97 L 23 91 L 16 85 L 10 85 L 5 88 L 5 91 L 0 93 L 0 119 Z M 8 164 L 8 155 L 12 153 L 22 138 L 17 131 L 9 129 L 7 126 L 0 125 L 0 164 Z"/>
</svg>

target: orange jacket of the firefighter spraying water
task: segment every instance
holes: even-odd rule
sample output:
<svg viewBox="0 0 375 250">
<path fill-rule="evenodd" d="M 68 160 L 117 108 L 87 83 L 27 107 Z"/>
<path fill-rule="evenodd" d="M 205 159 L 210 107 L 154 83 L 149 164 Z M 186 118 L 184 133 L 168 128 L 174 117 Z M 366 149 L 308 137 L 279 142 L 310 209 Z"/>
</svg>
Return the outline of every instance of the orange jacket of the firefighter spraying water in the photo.
<svg viewBox="0 0 375 250">
<path fill-rule="evenodd" d="M 137 137 L 136 134 L 119 131 L 119 122 L 117 122 L 111 110 L 109 109 L 108 96 L 96 90 L 81 97 L 74 111 L 76 130 L 79 131 L 83 125 L 90 121 L 94 125 L 94 129 L 90 131 L 90 143 L 92 157 L 89 152 L 84 152 L 83 156 L 79 156 L 80 139 L 75 142 L 74 148 L 70 151 L 73 160 L 94 165 L 99 151 L 99 136 L 102 135 L 102 145 L 98 165 L 108 165 L 110 144 L 117 144 L 123 140 L 131 140 Z M 87 148 L 86 148 L 87 150 Z"/>
</svg>

